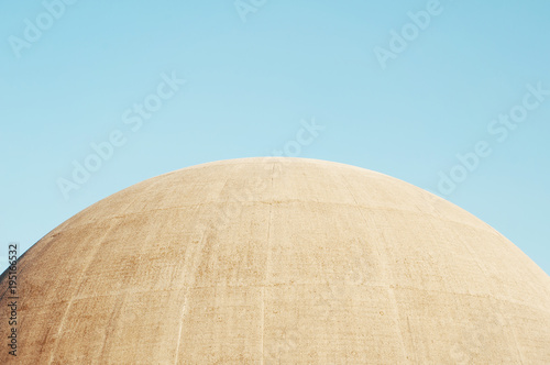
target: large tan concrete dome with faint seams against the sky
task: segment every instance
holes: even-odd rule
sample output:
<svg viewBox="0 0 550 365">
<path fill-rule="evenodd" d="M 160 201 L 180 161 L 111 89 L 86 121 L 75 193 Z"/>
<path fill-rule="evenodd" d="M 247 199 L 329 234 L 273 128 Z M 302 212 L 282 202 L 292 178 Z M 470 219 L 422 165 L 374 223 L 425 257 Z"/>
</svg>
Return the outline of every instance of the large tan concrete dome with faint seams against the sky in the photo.
<svg viewBox="0 0 550 365">
<path fill-rule="evenodd" d="M 450 202 L 337 163 L 158 176 L 19 266 L 22 364 L 550 363 L 542 269 Z"/>
</svg>

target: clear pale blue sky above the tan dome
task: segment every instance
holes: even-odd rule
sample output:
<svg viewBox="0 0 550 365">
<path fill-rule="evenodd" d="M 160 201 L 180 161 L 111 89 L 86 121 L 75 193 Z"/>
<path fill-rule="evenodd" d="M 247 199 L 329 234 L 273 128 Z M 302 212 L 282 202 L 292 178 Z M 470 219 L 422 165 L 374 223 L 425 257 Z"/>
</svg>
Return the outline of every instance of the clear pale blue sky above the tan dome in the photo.
<svg viewBox="0 0 550 365">
<path fill-rule="evenodd" d="M 2 270 L 10 242 L 21 255 L 125 187 L 283 150 L 432 191 L 550 273 L 550 96 L 506 141 L 487 131 L 528 85 L 550 90 L 550 2 L 442 0 L 384 65 L 375 51 L 391 51 L 393 31 L 414 31 L 408 13 L 429 1 L 246 0 L 241 13 L 232 0 L 45 3 L 57 3 L 57 18 L 41 1 L 0 0 Z M 186 84 L 132 131 L 123 114 L 163 75 Z M 312 120 L 324 130 L 288 148 Z M 116 130 L 127 143 L 65 199 L 58 179 Z M 438 188 L 480 141 L 492 154 L 452 192 Z"/>
</svg>

